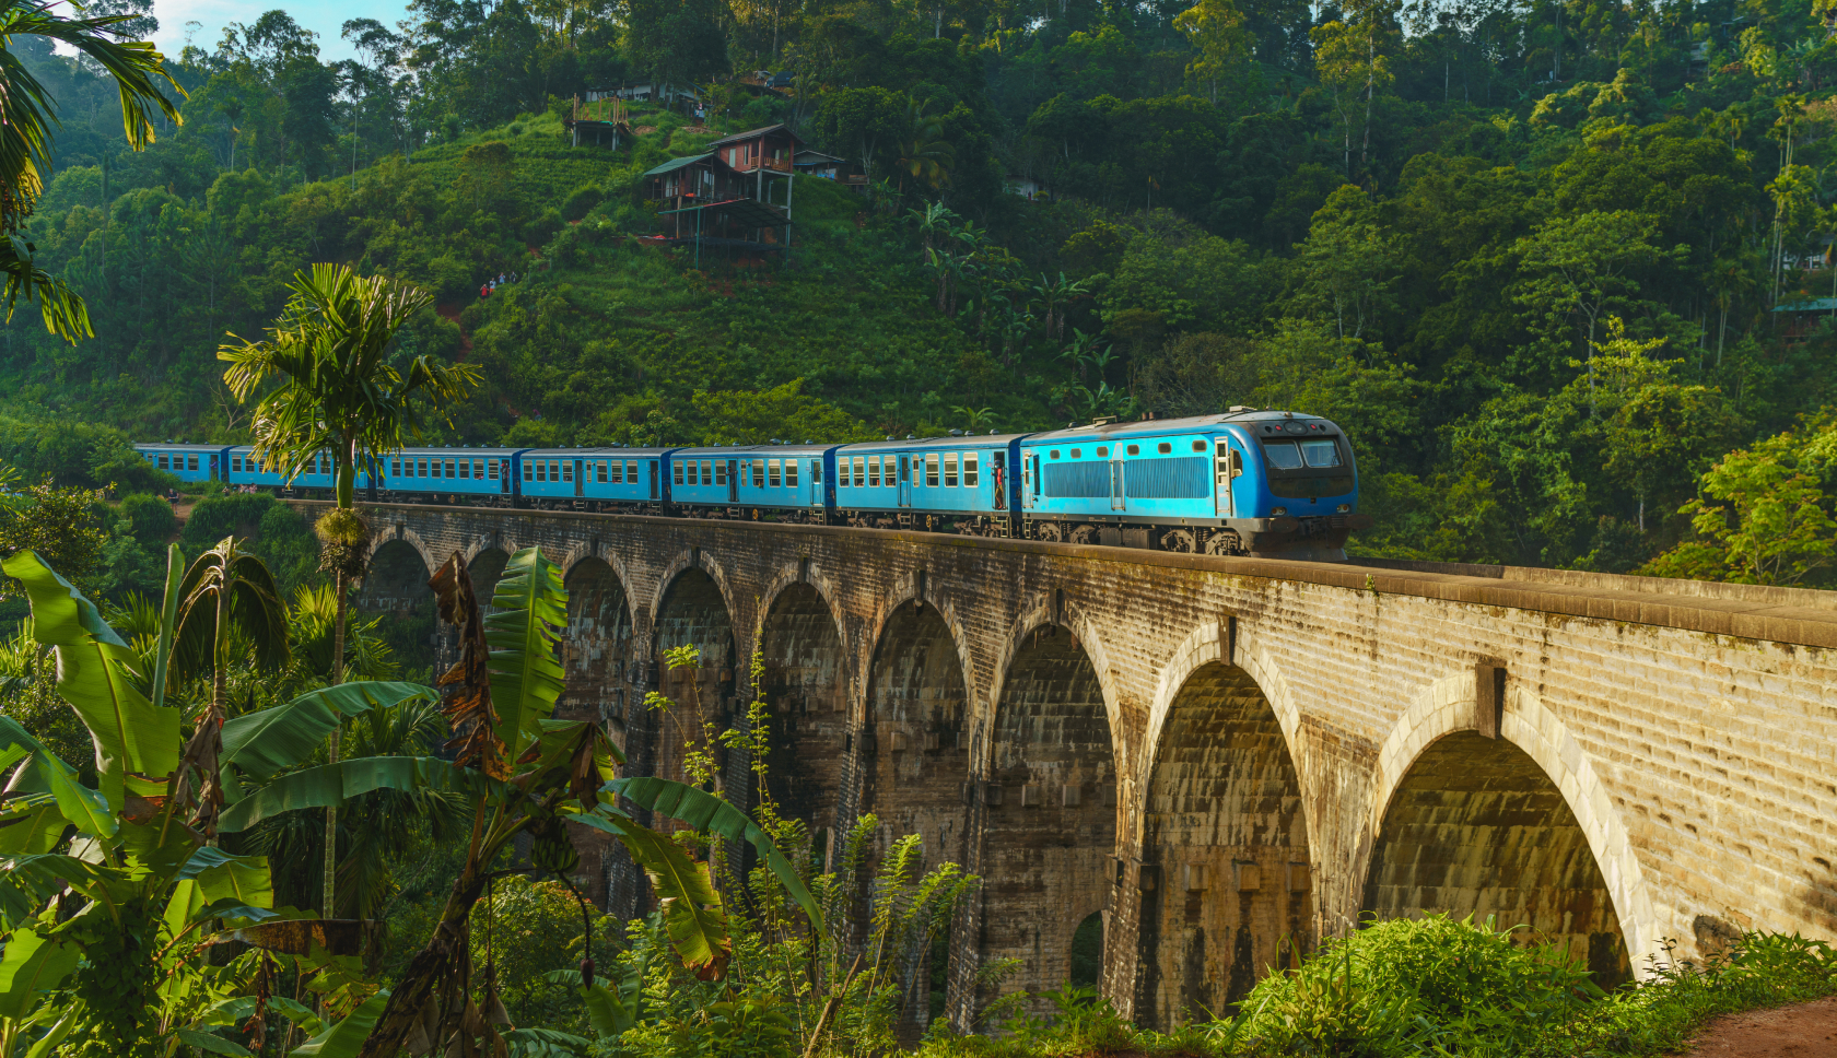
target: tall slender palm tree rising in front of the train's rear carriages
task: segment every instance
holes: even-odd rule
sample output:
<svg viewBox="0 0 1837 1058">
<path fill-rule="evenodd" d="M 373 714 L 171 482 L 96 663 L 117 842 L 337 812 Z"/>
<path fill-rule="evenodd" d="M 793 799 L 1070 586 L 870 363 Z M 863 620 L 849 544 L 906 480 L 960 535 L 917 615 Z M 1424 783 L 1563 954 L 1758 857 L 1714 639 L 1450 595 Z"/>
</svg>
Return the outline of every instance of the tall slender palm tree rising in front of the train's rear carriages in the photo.
<svg viewBox="0 0 1837 1058">
<path fill-rule="evenodd" d="M 362 467 L 375 481 L 382 457 L 421 437 L 424 417 L 465 397 L 478 384 L 468 364 L 439 364 L 415 356 L 408 371 L 389 364 L 395 332 L 434 296 L 382 276 L 364 277 L 347 264 L 314 264 L 296 272 L 292 298 L 263 342 L 222 345 L 230 364 L 224 382 L 237 400 L 248 400 L 270 378 L 281 384 L 255 406 L 254 456 L 296 478 L 321 456 L 334 467 L 338 505 L 316 529 L 325 547 L 320 564 L 336 580 L 338 621 L 332 630 L 331 681 L 344 681 L 347 588 L 364 571 L 369 527 L 353 511 Z M 235 338 L 235 334 L 231 334 Z M 331 762 L 338 762 L 338 727 L 331 731 Z M 325 810 L 325 906 L 334 906 L 338 884 L 338 808 Z"/>
</svg>

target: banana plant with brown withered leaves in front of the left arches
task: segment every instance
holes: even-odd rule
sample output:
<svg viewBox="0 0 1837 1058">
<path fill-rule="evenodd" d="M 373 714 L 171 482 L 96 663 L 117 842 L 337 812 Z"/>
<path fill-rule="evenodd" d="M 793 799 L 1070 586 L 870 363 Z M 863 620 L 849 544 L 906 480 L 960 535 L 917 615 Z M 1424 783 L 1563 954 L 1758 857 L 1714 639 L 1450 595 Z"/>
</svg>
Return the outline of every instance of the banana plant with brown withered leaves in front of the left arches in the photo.
<svg viewBox="0 0 1837 1058">
<path fill-rule="evenodd" d="M 426 946 L 400 974 L 388 997 L 371 999 L 351 1018 L 371 1019 L 364 1029 L 362 1058 L 502 1054 L 507 1034 L 492 994 L 489 968 L 478 974 L 470 957 L 472 909 L 518 836 L 531 836 L 531 867 L 566 876 L 577 863 L 568 825 L 579 823 L 617 836 L 650 876 L 665 931 L 683 962 L 704 977 L 724 974 L 729 939 L 720 896 L 705 861 L 682 845 L 637 823 L 619 799 L 689 823 L 727 841 L 749 841 L 812 924 L 819 913 L 790 861 L 766 832 L 720 797 L 683 782 L 615 777 L 619 748 L 590 720 L 555 720 L 564 672 L 560 630 L 568 625 L 568 593 L 560 569 L 540 549 L 518 551 L 503 568 L 485 613 L 472 593 L 465 558 L 454 555 L 428 580 L 441 619 L 459 628 L 457 661 L 437 680 L 443 713 L 452 726 L 452 760 L 395 757 L 388 762 L 321 764 L 279 775 L 230 805 L 220 830 L 252 827 L 263 817 L 309 805 L 332 805 L 362 790 L 441 788 L 470 799 L 472 838 L 454 878 L 446 906 Z M 226 755 L 230 738 L 226 731 Z M 584 959 L 580 981 L 590 1003 L 593 964 Z M 371 1005 L 377 1005 L 371 1008 Z M 338 1032 L 329 1029 L 327 1032 Z M 356 1030 L 338 1036 L 356 1038 Z M 329 1036 L 331 1040 L 331 1036 Z M 347 1058 L 344 1043 L 316 1051 Z"/>
</svg>

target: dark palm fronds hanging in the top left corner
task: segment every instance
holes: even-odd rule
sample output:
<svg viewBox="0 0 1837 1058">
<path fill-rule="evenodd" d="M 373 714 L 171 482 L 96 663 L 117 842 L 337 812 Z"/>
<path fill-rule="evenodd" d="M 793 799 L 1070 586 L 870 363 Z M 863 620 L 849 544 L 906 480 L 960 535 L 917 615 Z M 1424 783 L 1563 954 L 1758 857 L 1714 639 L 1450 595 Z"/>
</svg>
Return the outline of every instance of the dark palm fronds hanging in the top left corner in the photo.
<svg viewBox="0 0 1837 1058">
<path fill-rule="evenodd" d="M 24 296 L 26 301 L 39 303 L 46 331 L 75 342 L 96 334 L 83 298 L 62 279 L 33 264 L 33 244 L 17 239 L 20 222 L 31 215 L 51 173 L 51 127 L 57 118 L 51 112 L 51 92 L 15 55 L 13 39 L 48 37 L 68 44 L 114 77 L 121 92 L 121 129 L 134 151 L 152 143 L 154 110 L 167 121 L 180 123 L 178 107 L 156 81 L 165 81 L 180 96 L 184 90 L 165 72 L 165 57 L 152 44 L 112 39 L 118 35 L 114 28 L 132 15 L 64 18 L 51 7 L 33 0 L 0 0 L 0 272 L 6 274 L 7 320 Z"/>
</svg>

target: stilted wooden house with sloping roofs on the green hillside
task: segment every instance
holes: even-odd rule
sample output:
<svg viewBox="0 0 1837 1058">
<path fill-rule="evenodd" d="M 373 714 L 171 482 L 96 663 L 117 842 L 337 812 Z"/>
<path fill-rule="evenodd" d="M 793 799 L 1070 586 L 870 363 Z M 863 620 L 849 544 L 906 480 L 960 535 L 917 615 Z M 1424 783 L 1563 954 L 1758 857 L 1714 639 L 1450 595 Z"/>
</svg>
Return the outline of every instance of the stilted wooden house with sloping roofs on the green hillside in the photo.
<svg viewBox="0 0 1837 1058">
<path fill-rule="evenodd" d="M 645 173 L 645 197 L 658 202 L 658 231 L 647 241 L 731 250 L 742 257 L 790 246 L 792 158 L 801 140 L 784 125 L 753 129 L 709 143 L 707 154 L 674 158 Z"/>
</svg>

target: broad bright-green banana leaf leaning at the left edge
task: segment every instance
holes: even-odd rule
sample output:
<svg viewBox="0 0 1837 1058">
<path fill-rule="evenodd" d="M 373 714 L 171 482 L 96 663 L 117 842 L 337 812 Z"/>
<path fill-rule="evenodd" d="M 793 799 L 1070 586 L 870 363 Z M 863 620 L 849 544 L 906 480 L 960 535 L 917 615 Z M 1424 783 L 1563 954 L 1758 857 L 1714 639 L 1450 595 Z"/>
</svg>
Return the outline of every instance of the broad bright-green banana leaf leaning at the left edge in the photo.
<svg viewBox="0 0 1837 1058">
<path fill-rule="evenodd" d="M 134 650 L 37 551 L 20 551 L 0 569 L 26 586 L 33 636 L 57 648 L 57 692 L 90 729 L 108 806 L 119 810 L 127 792 L 165 794 L 178 768 L 178 711 L 156 709 L 141 694 Z"/>
</svg>

